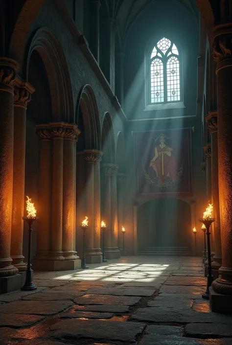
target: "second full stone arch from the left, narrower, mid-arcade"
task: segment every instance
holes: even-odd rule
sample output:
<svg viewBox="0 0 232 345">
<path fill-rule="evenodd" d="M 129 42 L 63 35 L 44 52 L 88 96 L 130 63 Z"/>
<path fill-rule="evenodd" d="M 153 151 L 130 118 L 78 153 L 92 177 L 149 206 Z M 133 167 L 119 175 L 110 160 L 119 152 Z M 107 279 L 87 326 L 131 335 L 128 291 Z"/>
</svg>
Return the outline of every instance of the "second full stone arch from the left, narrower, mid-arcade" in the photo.
<svg viewBox="0 0 232 345">
<path fill-rule="evenodd" d="M 82 118 L 81 118 L 82 117 Z M 92 87 L 87 84 L 77 101 L 75 123 L 83 121 L 85 149 L 101 149 L 101 130 L 96 98 Z M 80 135 L 81 136 L 81 135 Z"/>
</svg>

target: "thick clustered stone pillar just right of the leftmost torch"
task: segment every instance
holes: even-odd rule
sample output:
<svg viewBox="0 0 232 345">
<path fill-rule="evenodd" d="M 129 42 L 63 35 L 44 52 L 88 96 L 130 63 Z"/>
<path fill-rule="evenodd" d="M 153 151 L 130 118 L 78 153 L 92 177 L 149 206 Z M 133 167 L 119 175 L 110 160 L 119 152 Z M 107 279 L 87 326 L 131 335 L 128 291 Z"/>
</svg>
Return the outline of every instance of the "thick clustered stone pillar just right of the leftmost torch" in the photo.
<svg viewBox="0 0 232 345">
<path fill-rule="evenodd" d="M 74 124 L 50 122 L 37 126 L 40 136 L 40 187 L 37 252 L 34 267 L 48 271 L 80 267 L 74 251 L 75 144 Z"/>
</svg>

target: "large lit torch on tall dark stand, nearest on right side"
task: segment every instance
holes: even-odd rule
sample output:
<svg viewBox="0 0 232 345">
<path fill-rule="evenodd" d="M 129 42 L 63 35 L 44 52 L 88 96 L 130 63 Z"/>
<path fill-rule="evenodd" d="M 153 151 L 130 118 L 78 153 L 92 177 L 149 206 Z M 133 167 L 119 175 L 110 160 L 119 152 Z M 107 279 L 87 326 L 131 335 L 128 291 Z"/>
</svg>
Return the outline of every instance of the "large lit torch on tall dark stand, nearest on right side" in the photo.
<svg viewBox="0 0 232 345">
<path fill-rule="evenodd" d="M 212 264 L 211 264 L 211 250 L 210 250 L 210 225 L 215 221 L 215 218 L 212 218 L 213 206 L 209 204 L 206 211 L 203 214 L 203 218 L 200 218 L 199 221 L 203 223 L 206 227 L 206 236 L 207 236 L 207 250 L 208 250 L 208 276 L 207 276 L 207 288 L 206 291 L 202 294 L 203 299 L 209 299 L 209 287 L 212 284 Z"/>
</svg>

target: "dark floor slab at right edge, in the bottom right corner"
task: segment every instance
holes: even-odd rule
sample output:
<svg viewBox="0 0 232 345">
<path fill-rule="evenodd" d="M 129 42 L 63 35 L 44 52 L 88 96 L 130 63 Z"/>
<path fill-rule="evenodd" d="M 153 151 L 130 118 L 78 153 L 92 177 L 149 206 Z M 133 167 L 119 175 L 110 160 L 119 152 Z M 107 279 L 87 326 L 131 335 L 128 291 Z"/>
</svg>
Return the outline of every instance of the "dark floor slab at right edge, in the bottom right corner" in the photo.
<svg viewBox="0 0 232 345">
<path fill-rule="evenodd" d="M 185 326 L 187 337 L 195 338 L 232 338 L 232 325 L 221 323 L 189 323 Z"/>
</svg>

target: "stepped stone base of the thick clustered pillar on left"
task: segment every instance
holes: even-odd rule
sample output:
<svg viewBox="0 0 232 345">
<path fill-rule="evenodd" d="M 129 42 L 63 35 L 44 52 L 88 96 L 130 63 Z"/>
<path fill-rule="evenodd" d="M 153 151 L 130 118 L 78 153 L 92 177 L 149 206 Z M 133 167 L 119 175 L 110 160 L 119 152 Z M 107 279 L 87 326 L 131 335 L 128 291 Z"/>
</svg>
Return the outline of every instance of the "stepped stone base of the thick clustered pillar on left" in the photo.
<svg viewBox="0 0 232 345">
<path fill-rule="evenodd" d="M 79 257 L 75 260 L 32 260 L 34 271 L 74 271 L 81 267 Z"/>
</svg>

